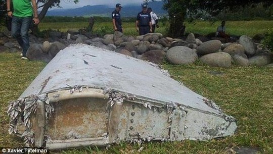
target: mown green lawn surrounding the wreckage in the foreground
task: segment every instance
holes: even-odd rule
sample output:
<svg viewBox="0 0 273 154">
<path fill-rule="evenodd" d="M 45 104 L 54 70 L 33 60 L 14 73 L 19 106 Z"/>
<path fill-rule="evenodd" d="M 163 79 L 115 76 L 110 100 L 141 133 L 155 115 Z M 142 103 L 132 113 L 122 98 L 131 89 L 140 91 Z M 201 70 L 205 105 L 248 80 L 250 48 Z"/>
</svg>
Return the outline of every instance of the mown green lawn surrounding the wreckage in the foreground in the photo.
<svg viewBox="0 0 273 154">
<path fill-rule="evenodd" d="M 17 99 L 45 66 L 36 61 L 21 61 L 19 53 L 0 54 L 0 145 L 22 147 L 22 140 L 8 134 L 8 102 Z M 196 63 L 173 66 L 168 63 L 175 80 L 193 91 L 213 99 L 223 112 L 238 122 L 235 135 L 218 140 L 150 142 L 140 146 L 129 143 L 113 145 L 109 150 L 84 147 L 54 153 L 229 153 L 233 147 L 257 147 L 261 153 L 273 153 L 273 69 L 269 67 L 214 68 Z M 212 75 L 210 72 L 220 72 Z"/>
</svg>

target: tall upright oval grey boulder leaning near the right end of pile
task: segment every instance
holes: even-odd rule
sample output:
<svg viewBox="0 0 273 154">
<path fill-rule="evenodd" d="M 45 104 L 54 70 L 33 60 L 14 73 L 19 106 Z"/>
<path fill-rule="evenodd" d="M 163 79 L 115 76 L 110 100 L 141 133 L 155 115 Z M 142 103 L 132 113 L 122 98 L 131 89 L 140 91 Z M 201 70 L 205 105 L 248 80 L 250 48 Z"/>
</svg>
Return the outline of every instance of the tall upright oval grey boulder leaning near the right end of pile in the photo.
<svg viewBox="0 0 273 154">
<path fill-rule="evenodd" d="M 242 35 L 239 38 L 239 43 L 242 44 L 245 48 L 246 55 L 252 57 L 256 52 L 256 45 L 254 41 L 247 35 Z"/>
</svg>

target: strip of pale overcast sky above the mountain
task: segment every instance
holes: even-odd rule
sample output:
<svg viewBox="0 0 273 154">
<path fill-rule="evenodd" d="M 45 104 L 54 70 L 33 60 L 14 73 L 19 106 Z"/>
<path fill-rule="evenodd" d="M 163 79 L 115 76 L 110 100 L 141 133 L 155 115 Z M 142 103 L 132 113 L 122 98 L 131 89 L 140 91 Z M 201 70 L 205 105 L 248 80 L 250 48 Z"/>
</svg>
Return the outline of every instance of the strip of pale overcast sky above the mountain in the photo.
<svg viewBox="0 0 273 154">
<path fill-rule="evenodd" d="M 139 4 L 141 5 L 143 3 L 143 0 L 79 0 L 78 4 L 74 4 L 73 0 L 62 0 L 61 1 L 61 7 L 63 9 L 70 9 L 70 8 L 80 8 L 83 6 L 95 6 L 95 5 L 109 5 L 113 6 L 115 8 L 116 4 L 120 3 L 121 6 L 125 6 L 127 4 Z M 58 8 L 52 8 L 52 9 L 58 9 Z"/>
</svg>

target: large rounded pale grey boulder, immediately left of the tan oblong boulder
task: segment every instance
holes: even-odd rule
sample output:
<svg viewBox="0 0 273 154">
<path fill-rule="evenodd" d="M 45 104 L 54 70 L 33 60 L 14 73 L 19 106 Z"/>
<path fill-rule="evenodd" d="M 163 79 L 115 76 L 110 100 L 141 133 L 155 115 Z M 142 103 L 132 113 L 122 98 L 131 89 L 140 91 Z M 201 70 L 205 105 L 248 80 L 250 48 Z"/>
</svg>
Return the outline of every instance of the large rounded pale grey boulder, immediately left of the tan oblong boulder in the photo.
<svg viewBox="0 0 273 154">
<path fill-rule="evenodd" d="M 166 58 L 171 64 L 192 64 L 197 59 L 196 52 L 187 46 L 174 46 L 168 49 Z"/>
</svg>

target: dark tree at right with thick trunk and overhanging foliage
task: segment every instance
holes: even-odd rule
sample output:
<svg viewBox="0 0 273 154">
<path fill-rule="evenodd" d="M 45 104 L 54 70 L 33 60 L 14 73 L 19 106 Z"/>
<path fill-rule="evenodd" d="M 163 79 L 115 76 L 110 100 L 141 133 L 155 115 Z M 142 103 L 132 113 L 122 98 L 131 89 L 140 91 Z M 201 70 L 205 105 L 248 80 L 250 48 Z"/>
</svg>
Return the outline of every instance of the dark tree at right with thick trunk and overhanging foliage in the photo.
<svg viewBox="0 0 273 154">
<path fill-rule="evenodd" d="M 154 1 L 154 0 L 150 0 Z M 186 16 L 197 17 L 199 14 L 206 12 L 210 16 L 216 16 L 225 9 L 236 10 L 240 7 L 251 6 L 262 3 L 264 7 L 272 6 L 272 0 L 162 0 L 165 5 L 164 9 L 169 14 L 169 28 L 170 36 L 178 37 L 183 35 L 185 26 L 184 20 Z M 149 0 L 144 1 L 148 3 Z"/>
</svg>

